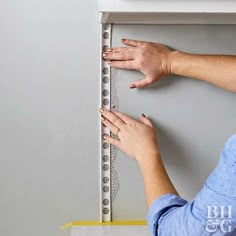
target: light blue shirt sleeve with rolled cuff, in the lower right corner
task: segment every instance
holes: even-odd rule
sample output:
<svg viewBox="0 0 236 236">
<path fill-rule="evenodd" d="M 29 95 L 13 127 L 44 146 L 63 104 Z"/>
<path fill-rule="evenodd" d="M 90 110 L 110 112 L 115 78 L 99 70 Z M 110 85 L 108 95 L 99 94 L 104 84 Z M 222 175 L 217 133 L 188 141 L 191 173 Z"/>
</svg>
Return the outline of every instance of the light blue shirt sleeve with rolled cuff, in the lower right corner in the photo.
<svg viewBox="0 0 236 236">
<path fill-rule="evenodd" d="M 236 236 L 236 135 L 195 199 L 165 194 L 151 204 L 147 222 L 153 236 Z"/>
</svg>

